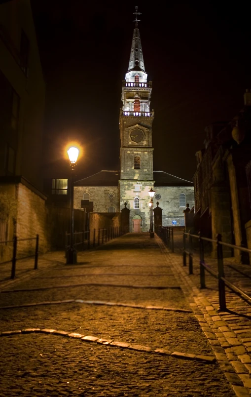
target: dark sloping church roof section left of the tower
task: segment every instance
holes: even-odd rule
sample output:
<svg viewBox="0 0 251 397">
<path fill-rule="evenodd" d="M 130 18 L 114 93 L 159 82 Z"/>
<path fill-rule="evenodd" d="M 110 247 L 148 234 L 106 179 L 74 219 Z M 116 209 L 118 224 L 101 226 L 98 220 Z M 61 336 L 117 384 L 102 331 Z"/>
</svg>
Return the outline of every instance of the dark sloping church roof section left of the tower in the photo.
<svg viewBox="0 0 251 397">
<path fill-rule="evenodd" d="M 118 186 L 120 171 L 100 171 L 74 182 L 74 186 Z"/>
</svg>

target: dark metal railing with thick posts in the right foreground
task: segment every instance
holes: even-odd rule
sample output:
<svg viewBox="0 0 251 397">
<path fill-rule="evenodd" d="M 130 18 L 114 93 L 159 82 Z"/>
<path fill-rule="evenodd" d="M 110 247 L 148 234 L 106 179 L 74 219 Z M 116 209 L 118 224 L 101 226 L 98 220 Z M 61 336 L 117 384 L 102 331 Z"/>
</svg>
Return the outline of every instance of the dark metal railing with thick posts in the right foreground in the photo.
<svg viewBox="0 0 251 397">
<path fill-rule="evenodd" d="M 186 244 L 186 238 L 188 238 L 188 246 Z M 246 294 L 241 288 L 237 287 L 234 285 L 232 282 L 227 280 L 225 278 L 225 273 L 224 273 L 224 262 L 223 262 L 223 247 L 228 247 L 228 248 L 233 248 L 233 249 L 238 249 L 243 252 L 247 252 L 251 254 L 251 249 L 241 247 L 239 245 L 234 245 L 234 244 L 229 244 L 226 242 L 222 241 L 221 235 L 218 234 L 216 236 L 216 239 L 212 238 L 207 238 L 207 237 L 202 237 L 199 233 L 199 235 L 193 235 L 191 234 L 191 231 L 189 233 L 183 232 L 183 266 L 186 266 L 186 256 L 188 255 L 188 271 L 189 275 L 193 274 L 193 238 L 198 239 L 199 242 L 199 255 L 200 255 L 200 286 L 201 288 L 206 288 L 206 279 L 205 279 L 205 270 L 211 274 L 214 278 L 218 280 L 218 296 L 219 296 L 219 310 L 226 310 L 226 294 L 225 294 L 225 285 L 231 289 L 234 293 L 242 296 L 244 299 L 248 300 L 249 303 L 251 304 L 251 296 Z M 216 244 L 216 252 L 217 252 L 217 272 L 215 270 L 211 269 L 210 266 L 208 266 L 205 263 L 205 258 L 204 258 L 204 241 L 208 241 L 211 243 Z"/>
</svg>

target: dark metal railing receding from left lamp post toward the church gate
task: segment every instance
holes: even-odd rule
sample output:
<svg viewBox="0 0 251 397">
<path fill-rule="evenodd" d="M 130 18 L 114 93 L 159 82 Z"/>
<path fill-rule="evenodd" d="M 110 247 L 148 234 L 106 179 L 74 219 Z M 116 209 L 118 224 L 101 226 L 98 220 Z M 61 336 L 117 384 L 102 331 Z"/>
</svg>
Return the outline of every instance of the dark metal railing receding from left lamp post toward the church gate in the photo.
<svg viewBox="0 0 251 397">
<path fill-rule="evenodd" d="M 91 247 L 95 248 L 97 245 L 104 244 L 105 242 L 112 240 L 113 238 L 117 238 L 119 236 L 128 233 L 129 227 L 120 227 L 114 226 L 107 229 L 93 229 L 82 231 L 82 232 L 74 232 L 73 233 L 73 246 L 77 249 L 77 246 L 80 246 L 80 249 L 84 251 L 85 249 L 90 249 Z M 69 236 L 70 233 L 66 232 L 66 250 L 70 248 L 69 244 Z M 79 249 L 78 249 L 79 250 Z"/>
</svg>

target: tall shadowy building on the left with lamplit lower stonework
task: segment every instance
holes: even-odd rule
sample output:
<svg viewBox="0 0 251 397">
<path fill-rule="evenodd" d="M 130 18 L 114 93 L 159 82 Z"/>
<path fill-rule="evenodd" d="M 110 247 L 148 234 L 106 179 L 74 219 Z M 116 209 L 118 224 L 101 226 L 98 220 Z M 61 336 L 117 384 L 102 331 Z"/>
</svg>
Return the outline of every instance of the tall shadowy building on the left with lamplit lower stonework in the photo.
<svg viewBox="0 0 251 397">
<path fill-rule="evenodd" d="M 46 249 L 41 146 L 45 83 L 30 0 L 0 4 L 0 240 Z M 31 243 L 34 245 L 34 243 Z M 23 243 L 24 245 L 24 243 Z M 1 244 L 1 254 L 7 246 Z"/>
</svg>

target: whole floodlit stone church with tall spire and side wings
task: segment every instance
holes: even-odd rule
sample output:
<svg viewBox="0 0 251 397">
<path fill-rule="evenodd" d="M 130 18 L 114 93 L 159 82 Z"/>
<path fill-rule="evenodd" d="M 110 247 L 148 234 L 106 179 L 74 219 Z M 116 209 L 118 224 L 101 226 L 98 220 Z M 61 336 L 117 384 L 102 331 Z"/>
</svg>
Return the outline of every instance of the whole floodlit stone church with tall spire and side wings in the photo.
<svg viewBox="0 0 251 397">
<path fill-rule="evenodd" d="M 147 80 L 137 15 L 129 67 L 122 82 L 119 115 L 120 170 L 100 171 L 74 183 L 74 208 L 93 212 L 120 212 L 127 203 L 130 217 L 149 217 L 150 188 L 153 207 L 158 202 L 171 225 L 183 226 L 186 203 L 194 205 L 193 183 L 164 171 L 153 171 L 152 123 L 150 110 L 152 82 Z"/>
</svg>

